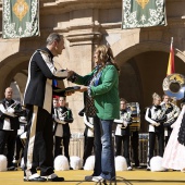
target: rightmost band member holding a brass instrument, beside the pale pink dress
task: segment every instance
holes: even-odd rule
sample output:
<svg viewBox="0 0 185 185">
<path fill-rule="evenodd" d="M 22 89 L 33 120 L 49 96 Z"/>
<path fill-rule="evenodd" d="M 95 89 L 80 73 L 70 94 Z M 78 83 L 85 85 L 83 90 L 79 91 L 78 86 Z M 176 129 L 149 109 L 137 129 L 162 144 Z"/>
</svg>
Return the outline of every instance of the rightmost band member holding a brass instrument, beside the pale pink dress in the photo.
<svg viewBox="0 0 185 185">
<path fill-rule="evenodd" d="M 170 135 L 172 133 L 171 125 L 176 121 L 180 114 L 180 108 L 171 102 L 169 96 L 163 95 L 163 101 L 161 102 L 162 109 L 165 109 L 166 121 L 163 123 L 164 125 L 164 137 L 165 137 L 165 146 L 169 141 Z"/>
</svg>

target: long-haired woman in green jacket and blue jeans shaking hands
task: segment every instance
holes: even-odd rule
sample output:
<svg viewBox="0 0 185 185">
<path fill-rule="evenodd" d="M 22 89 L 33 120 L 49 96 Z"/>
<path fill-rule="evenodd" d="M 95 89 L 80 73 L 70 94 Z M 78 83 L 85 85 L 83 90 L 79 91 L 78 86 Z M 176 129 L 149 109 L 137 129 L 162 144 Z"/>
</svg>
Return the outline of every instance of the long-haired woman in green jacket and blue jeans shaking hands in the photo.
<svg viewBox="0 0 185 185">
<path fill-rule="evenodd" d="M 95 118 L 95 169 L 87 181 L 104 182 L 115 180 L 114 150 L 112 146 L 113 120 L 120 118 L 119 69 L 110 47 L 96 48 L 96 69 L 81 76 L 74 74 L 74 83 L 85 85 L 85 111 Z"/>
</svg>

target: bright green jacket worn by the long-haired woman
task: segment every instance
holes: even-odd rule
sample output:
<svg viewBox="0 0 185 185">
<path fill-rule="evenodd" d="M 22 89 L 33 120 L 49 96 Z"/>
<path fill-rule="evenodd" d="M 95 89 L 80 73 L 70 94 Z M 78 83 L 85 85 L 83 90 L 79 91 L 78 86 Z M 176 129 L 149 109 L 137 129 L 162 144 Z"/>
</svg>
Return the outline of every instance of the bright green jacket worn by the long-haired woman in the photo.
<svg viewBox="0 0 185 185">
<path fill-rule="evenodd" d="M 88 79 L 96 73 L 77 76 L 76 84 L 86 85 Z M 114 65 L 106 65 L 102 70 L 98 86 L 90 87 L 91 97 L 95 100 L 98 118 L 114 120 L 120 118 L 119 74 Z"/>
</svg>

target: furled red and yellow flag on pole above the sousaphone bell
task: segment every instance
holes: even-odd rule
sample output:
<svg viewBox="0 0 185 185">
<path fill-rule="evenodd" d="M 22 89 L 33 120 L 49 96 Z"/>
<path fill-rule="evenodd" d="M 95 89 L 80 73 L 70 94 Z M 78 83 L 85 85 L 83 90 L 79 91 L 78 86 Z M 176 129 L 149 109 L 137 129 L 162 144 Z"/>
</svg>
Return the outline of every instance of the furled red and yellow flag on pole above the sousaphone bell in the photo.
<svg viewBox="0 0 185 185">
<path fill-rule="evenodd" d="M 170 74 L 173 74 L 173 73 L 175 73 L 175 66 L 174 66 L 174 49 L 173 49 L 173 37 L 172 37 L 171 46 L 170 46 L 170 57 L 169 57 L 166 76 Z"/>
</svg>

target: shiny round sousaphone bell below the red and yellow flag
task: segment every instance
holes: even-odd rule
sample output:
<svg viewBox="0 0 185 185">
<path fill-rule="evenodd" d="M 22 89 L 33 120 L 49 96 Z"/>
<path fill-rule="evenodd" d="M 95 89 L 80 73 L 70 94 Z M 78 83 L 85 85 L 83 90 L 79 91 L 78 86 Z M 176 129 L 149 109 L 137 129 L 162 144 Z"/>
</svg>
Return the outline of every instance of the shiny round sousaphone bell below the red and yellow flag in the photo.
<svg viewBox="0 0 185 185">
<path fill-rule="evenodd" d="M 163 79 L 162 87 L 165 95 L 181 100 L 185 95 L 185 76 L 178 73 L 171 74 Z"/>
</svg>

